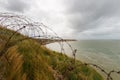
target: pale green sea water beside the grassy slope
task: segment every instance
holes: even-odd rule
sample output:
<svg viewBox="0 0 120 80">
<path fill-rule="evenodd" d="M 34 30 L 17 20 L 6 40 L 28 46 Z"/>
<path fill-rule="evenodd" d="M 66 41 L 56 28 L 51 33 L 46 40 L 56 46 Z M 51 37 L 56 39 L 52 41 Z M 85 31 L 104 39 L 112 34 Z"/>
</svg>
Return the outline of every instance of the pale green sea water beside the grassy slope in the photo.
<svg viewBox="0 0 120 80">
<path fill-rule="evenodd" d="M 77 59 L 82 62 L 94 63 L 107 71 L 120 70 L 120 40 L 82 40 L 70 42 L 77 49 Z M 48 48 L 61 51 L 58 43 L 47 45 Z M 65 53 L 72 56 L 70 48 L 64 43 Z M 120 75 L 113 74 L 114 80 Z"/>
</svg>

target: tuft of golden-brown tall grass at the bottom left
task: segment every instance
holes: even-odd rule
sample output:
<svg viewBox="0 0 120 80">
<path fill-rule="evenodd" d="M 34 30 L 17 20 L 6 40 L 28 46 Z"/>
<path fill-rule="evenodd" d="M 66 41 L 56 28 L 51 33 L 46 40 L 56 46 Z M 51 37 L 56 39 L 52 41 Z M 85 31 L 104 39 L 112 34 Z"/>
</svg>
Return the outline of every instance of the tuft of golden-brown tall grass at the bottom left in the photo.
<svg viewBox="0 0 120 80">
<path fill-rule="evenodd" d="M 5 80 L 26 80 L 26 74 L 22 70 L 23 56 L 17 52 L 16 47 L 8 49 L 0 60 L 1 71 Z"/>
</svg>

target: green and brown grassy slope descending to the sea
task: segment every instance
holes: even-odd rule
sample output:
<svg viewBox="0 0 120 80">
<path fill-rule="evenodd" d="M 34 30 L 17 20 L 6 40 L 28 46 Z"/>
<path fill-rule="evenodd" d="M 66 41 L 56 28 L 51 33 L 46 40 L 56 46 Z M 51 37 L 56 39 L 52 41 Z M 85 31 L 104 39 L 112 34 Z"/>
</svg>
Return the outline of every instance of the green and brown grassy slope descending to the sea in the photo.
<svg viewBox="0 0 120 80">
<path fill-rule="evenodd" d="M 0 28 L 0 50 L 11 30 Z M 24 40 L 15 45 L 14 40 L 24 36 L 17 34 L 10 41 L 10 46 L 0 58 L 0 75 L 5 80 L 103 80 L 91 67 L 81 65 L 75 68 L 73 59 L 41 46 L 34 40 Z M 76 62 L 81 64 L 80 61 Z M 1 77 L 0 77 L 1 78 Z"/>
</svg>

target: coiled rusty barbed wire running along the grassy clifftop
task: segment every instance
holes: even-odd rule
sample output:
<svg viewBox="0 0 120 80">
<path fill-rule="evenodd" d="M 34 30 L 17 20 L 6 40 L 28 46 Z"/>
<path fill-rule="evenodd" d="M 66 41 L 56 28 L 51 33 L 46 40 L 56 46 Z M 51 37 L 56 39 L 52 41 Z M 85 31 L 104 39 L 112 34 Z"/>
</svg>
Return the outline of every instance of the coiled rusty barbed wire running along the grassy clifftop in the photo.
<svg viewBox="0 0 120 80">
<path fill-rule="evenodd" d="M 64 40 L 63 38 L 59 37 L 57 33 L 55 33 L 51 28 L 44 25 L 43 23 L 34 22 L 33 20 L 23 15 L 16 15 L 13 13 L 0 13 L 0 27 L 5 28 L 5 29 L 7 28 L 9 30 L 14 31 L 12 34 L 9 34 L 10 36 L 6 39 L 6 42 L 2 50 L 0 51 L 0 57 L 5 53 L 5 51 L 7 51 L 9 47 L 15 45 L 16 43 L 21 42 L 26 39 L 34 39 L 38 41 L 40 45 L 57 42 L 60 45 L 61 53 L 64 53 L 64 54 L 66 52 L 63 46 L 64 46 L 64 43 L 67 44 L 71 50 L 71 54 L 73 55 L 74 64 L 76 63 L 77 50 L 74 49 L 71 46 L 71 44 L 67 42 L 67 40 Z M 3 29 L 3 31 L 0 32 L 1 35 L 8 34 L 8 32 L 5 29 Z M 14 39 L 13 44 L 9 45 L 11 40 L 14 38 L 14 36 L 18 35 L 18 33 L 22 34 L 24 37 Z M 106 80 L 113 80 L 111 76 L 113 73 L 120 75 L 120 71 L 111 70 L 107 72 L 99 65 L 92 64 L 92 63 L 82 63 L 80 65 L 76 65 L 76 67 L 79 67 L 81 65 L 85 65 L 85 66 L 89 65 L 89 66 L 93 66 L 97 68 L 98 70 L 100 70 L 101 72 L 105 74 Z"/>
</svg>

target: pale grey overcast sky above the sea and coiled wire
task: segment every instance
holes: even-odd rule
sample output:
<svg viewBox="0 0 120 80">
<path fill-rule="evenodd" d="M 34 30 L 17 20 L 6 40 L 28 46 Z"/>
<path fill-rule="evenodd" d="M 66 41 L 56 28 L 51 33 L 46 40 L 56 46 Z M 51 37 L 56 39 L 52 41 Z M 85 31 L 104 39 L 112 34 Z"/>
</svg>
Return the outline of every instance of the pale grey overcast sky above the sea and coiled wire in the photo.
<svg viewBox="0 0 120 80">
<path fill-rule="evenodd" d="M 64 38 L 120 39 L 120 0 L 0 0 L 0 10 L 43 22 Z"/>
</svg>

